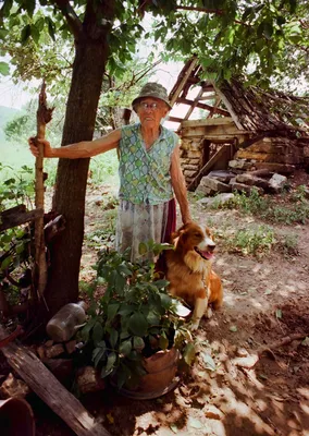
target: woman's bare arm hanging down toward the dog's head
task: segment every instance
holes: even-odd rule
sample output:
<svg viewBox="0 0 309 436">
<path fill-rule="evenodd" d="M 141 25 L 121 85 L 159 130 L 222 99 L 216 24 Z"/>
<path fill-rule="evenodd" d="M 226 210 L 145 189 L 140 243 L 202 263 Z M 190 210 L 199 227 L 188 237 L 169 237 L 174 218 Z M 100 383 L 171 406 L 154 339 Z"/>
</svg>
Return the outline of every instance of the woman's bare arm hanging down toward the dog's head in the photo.
<svg viewBox="0 0 309 436">
<path fill-rule="evenodd" d="M 180 146 L 174 149 L 171 161 L 172 186 L 181 207 L 182 220 L 185 225 L 191 221 L 185 178 L 181 168 Z"/>
</svg>

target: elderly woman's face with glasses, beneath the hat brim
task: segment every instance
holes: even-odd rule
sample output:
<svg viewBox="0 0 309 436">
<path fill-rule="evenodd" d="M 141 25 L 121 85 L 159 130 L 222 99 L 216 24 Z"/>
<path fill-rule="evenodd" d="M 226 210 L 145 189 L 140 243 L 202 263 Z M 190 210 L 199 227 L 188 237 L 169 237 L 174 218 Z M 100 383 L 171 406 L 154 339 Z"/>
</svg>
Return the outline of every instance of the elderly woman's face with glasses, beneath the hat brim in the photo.
<svg viewBox="0 0 309 436">
<path fill-rule="evenodd" d="M 164 101 L 147 97 L 138 102 L 136 112 L 144 128 L 158 129 L 162 118 L 169 112 L 169 108 Z"/>
</svg>

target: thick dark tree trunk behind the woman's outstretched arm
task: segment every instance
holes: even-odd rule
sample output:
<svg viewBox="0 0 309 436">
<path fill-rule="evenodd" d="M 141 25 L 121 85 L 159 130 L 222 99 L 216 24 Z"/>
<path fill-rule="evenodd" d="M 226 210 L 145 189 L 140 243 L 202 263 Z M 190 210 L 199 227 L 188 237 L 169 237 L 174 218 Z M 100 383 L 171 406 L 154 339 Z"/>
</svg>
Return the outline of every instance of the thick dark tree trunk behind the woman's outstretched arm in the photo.
<svg viewBox="0 0 309 436">
<path fill-rule="evenodd" d="M 62 145 L 92 138 L 96 112 L 108 58 L 107 33 L 99 39 L 77 38 Z M 46 301 L 49 316 L 78 298 L 84 238 L 85 195 L 89 159 L 60 159 L 53 209 L 64 216 L 65 230 L 52 242 Z"/>
</svg>

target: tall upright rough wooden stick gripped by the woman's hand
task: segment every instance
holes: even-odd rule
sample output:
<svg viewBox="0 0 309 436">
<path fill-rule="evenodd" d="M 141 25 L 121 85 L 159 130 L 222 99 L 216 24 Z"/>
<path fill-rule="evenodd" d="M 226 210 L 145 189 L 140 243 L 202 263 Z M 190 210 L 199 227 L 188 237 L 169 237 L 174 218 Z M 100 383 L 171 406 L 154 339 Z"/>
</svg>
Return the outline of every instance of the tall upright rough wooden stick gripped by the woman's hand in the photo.
<svg viewBox="0 0 309 436">
<path fill-rule="evenodd" d="M 45 140 L 46 124 L 51 120 L 53 108 L 48 109 L 46 105 L 46 84 L 41 85 L 37 110 L 37 138 Z M 36 158 L 36 208 L 44 209 L 44 145 L 38 144 L 39 156 Z M 44 217 L 35 223 L 35 283 L 37 295 L 40 300 L 47 282 L 47 262 L 44 240 Z"/>
</svg>

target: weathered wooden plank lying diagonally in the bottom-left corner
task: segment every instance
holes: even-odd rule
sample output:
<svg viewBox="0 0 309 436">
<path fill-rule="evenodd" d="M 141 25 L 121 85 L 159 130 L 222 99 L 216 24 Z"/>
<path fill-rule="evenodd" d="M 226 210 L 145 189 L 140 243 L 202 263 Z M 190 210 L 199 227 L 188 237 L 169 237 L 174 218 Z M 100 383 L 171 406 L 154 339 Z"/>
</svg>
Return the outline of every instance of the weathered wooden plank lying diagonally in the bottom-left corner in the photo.
<svg viewBox="0 0 309 436">
<path fill-rule="evenodd" d="M 0 340 L 8 336 L 0 325 Z M 77 436 L 111 436 L 28 348 L 12 342 L 1 351 L 12 368 Z"/>
</svg>

